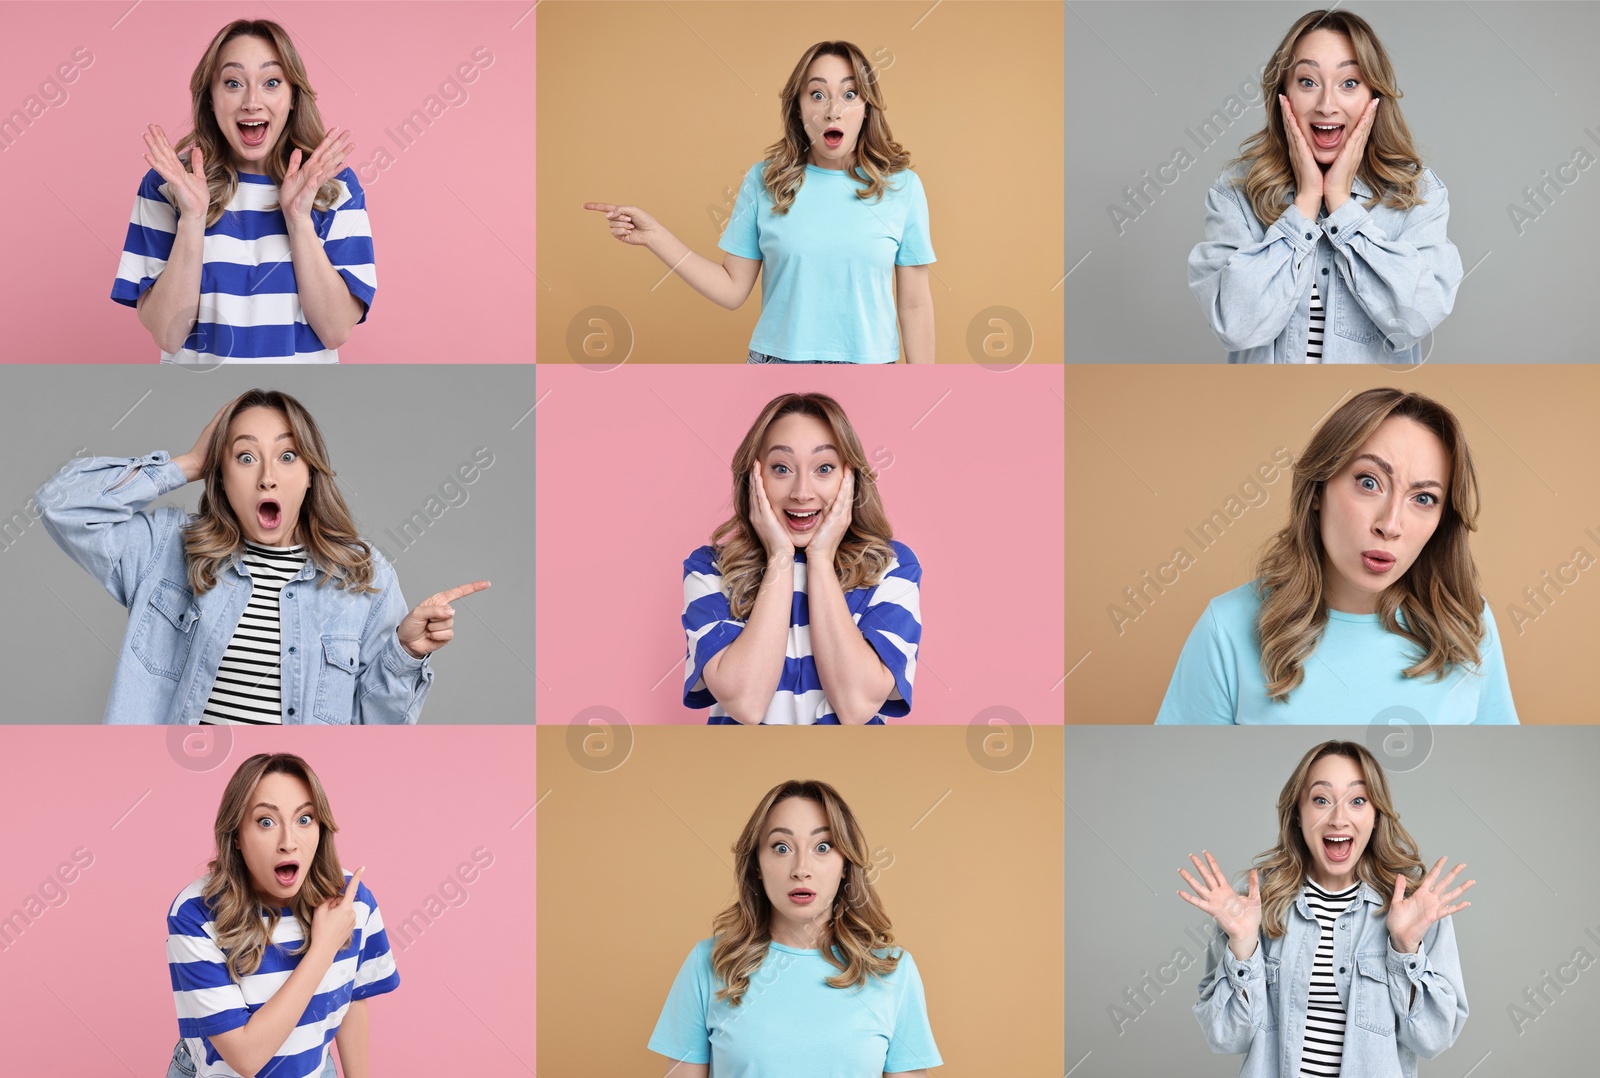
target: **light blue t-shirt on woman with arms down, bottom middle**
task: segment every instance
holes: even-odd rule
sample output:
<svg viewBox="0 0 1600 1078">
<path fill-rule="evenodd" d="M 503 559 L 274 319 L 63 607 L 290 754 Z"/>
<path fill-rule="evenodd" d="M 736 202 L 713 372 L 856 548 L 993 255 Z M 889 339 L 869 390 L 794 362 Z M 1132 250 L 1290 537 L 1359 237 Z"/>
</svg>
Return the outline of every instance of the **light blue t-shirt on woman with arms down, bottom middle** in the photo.
<svg viewBox="0 0 1600 1078">
<path fill-rule="evenodd" d="M 710 1064 L 710 1078 L 877 1078 L 939 1067 L 922 976 L 909 952 L 886 977 L 830 988 L 821 952 L 766 945 L 766 960 L 731 1006 L 710 968 L 712 940 L 683 960 L 650 1051 Z"/>
</svg>

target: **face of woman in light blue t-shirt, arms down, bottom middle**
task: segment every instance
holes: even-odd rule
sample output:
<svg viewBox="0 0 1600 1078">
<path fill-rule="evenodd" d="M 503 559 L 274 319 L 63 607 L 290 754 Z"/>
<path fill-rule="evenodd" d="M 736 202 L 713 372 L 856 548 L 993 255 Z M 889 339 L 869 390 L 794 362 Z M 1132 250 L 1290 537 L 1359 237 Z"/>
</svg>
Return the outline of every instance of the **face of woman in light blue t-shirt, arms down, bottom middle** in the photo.
<svg viewBox="0 0 1600 1078">
<path fill-rule="evenodd" d="M 789 947 L 816 947 L 818 926 L 832 915 L 845 875 L 845 856 L 834 848 L 822 806 L 798 797 L 774 805 L 762 827 L 757 865 L 773 904 L 773 939 Z"/>
</svg>

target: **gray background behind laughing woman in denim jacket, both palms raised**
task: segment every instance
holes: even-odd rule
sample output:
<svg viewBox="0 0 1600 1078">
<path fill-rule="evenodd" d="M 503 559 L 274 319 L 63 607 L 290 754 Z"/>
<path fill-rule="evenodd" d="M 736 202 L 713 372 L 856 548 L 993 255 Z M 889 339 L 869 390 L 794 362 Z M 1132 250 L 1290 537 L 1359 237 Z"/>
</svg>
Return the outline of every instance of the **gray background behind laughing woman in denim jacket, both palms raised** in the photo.
<svg viewBox="0 0 1600 1078">
<path fill-rule="evenodd" d="M 1600 729 L 1250 726 L 1067 728 L 1066 1067 L 1072 1078 L 1232 1078 L 1190 1011 L 1205 955 L 1186 929 L 1211 924 L 1178 897 L 1187 856 L 1210 849 L 1230 875 L 1277 841 L 1277 797 L 1301 755 L 1360 741 L 1389 771 L 1402 822 L 1432 865 L 1467 864 L 1472 907 L 1456 915 L 1470 1016 L 1422 1078 L 1571 1078 L 1594 1073 L 1600 1003 L 1600 867 L 1594 803 Z M 1458 880 L 1458 883 L 1461 881 Z M 1595 960 L 1518 1035 L 1507 1008 L 1582 947 Z M 1194 964 L 1123 1025 L 1123 990 L 1184 948 Z M 1168 977 L 1171 974 L 1168 972 Z M 1086 1057 L 1085 1057 L 1086 1056 Z M 1074 1070 L 1075 1067 L 1075 1070 Z"/>
</svg>

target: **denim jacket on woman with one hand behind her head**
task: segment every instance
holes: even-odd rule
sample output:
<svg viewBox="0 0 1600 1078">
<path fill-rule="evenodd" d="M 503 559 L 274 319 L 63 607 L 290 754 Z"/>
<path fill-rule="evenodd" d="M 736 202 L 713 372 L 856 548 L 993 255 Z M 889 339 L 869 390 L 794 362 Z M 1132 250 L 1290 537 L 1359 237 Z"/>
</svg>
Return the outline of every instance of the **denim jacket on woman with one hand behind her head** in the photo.
<svg viewBox="0 0 1600 1078">
<path fill-rule="evenodd" d="M 250 569 L 235 557 L 216 587 L 195 597 L 182 526 L 173 507 L 141 512 L 184 486 L 165 451 L 72 461 L 38 489 L 40 520 L 56 544 L 128 608 L 106 721 L 198 725 L 222 651 L 250 600 Z M 373 550 L 376 592 L 334 587 L 310 561 L 283 585 L 283 721 L 414 723 L 434 681 L 395 629 L 406 614 L 394 568 Z"/>
</svg>

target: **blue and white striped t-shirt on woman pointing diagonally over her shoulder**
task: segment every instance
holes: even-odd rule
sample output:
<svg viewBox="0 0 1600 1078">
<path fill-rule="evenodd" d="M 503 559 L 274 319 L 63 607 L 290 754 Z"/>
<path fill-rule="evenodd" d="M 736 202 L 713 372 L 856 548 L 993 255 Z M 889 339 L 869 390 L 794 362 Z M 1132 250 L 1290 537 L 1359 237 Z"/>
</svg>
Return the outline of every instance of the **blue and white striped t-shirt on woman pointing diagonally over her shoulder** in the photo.
<svg viewBox="0 0 1600 1078">
<path fill-rule="evenodd" d="M 344 878 L 349 880 L 350 873 Z M 203 897 L 206 876 L 202 876 L 184 888 L 166 915 L 166 966 L 178 1001 L 178 1035 L 195 1060 L 195 1078 L 238 1078 L 238 1072 L 218 1056 L 206 1038 L 240 1028 L 272 998 L 299 964 L 299 956 L 286 950 L 301 942 L 302 932 L 294 915 L 283 910 L 261 966 L 235 984 L 227 976 L 227 956 L 216 942 L 216 924 Z M 394 992 L 398 985 L 400 972 L 389 952 L 378 900 L 362 883 L 355 891 L 350 945 L 334 956 L 294 1032 L 259 1073 L 315 1078 L 328 1060 L 328 1044 L 350 1003 Z"/>
</svg>

